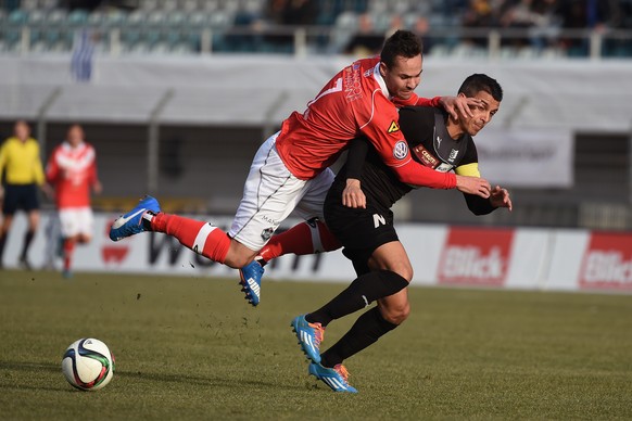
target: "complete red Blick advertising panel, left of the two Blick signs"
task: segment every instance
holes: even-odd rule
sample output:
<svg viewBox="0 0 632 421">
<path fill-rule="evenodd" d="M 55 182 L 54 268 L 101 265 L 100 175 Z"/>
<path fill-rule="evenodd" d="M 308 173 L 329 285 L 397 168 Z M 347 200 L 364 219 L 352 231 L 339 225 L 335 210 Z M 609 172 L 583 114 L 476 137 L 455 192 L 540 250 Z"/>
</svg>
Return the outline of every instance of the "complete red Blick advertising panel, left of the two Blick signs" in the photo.
<svg viewBox="0 0 632 421">
<path fill-rule="evenodd" d="M 439 283 L 503 286 L 513 230 L 451 228 L 439 263 Z"/>
</svg>

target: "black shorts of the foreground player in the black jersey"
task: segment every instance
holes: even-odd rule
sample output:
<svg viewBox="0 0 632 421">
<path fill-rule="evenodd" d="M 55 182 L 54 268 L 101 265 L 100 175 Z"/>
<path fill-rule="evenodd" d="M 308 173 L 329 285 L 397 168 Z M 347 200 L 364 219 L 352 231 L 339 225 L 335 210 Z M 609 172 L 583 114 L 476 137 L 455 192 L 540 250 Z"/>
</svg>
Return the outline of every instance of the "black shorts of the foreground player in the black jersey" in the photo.
<svg viewBox="0 0 632 421">
<path fill-rule="evenodd" d="M 342 243 L 342 253 L 353 261 L 358 275 L 368 271 L 368 259 L 380 245 L 399 241 L 393 227 L 391 209 L 371 203 L 366 208 L 351 208 L 342 204 L 342 190 L 332 187 L 325 200 L 327 227 Z"/>
</svg>

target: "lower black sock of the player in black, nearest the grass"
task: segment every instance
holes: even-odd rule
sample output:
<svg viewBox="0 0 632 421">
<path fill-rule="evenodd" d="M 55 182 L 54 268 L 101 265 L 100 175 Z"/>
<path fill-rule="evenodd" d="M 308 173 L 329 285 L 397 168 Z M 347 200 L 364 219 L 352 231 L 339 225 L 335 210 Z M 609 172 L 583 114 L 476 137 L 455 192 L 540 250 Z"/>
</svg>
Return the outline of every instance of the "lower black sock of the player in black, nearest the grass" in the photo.
<svg viewBox="0 0 632 421">
<path fill-rule="evenodd" d="M 362 315 L 340 341 L 320 355 L 320 363 L 323 367 L 334 367 L 376 343 L 396 327 L 397 324 L 384 320 L 380 309 L 374 307 Z"/>
</svg>

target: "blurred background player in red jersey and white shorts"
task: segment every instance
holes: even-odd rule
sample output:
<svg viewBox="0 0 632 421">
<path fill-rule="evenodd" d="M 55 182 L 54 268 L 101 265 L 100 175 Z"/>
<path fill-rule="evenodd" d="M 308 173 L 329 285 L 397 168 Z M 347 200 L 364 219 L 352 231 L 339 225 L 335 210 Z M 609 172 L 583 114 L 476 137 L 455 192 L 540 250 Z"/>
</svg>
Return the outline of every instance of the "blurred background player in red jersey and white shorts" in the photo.
<svg viewBox="0 0 632 421">
<path fill-rule="evenodd" d="M 92 238 L 90 189 L 101 192 L 97 178 L 97 154 L 84 138 L 81 126 L 71 126 L 66 140 L 51 154 L 46 170 L 47 180 L 55 192 L 63 238 L 63 275 L 66 278 L 72 276 L 75 244 L 88 243 Z"/>
</svg>

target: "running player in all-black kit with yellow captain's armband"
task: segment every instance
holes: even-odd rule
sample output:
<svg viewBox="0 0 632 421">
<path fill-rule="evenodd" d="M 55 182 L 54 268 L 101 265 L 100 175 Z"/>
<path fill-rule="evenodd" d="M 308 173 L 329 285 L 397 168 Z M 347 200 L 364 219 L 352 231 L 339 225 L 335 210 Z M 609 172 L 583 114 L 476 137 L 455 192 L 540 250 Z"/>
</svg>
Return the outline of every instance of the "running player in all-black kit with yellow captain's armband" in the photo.
<svg viewBox="0 0 632 421">
<path fill-rule="evenodd" d="M 469 76 L 459 95 L 477 98 L 473 116 L 455 120 L 434 107 L 405 107 L 399 126 L 413 156 L 438 171 L 480 177 L 472 136 L 498 111 L 503 90 L 496 80 L 482 74 Z M 362 181 L 362 182 L 361 182 Z M 362 189 L 362 194 L 361 193 Z M 413 187 L 402 183 L 381 162 L 366 140 L 356 139 L 346 165 L 336 177 L 325 202 L 325 218 L 344 246 L 358 275 L 351 285 L 316 311 L 296 317 L 292 327 L 299 343 L 312 360 L 309 373 L 337 392 L 356 392 L 347 382 L 342 361 L 375 343 L 400 326 L 409 314 L 406 286 L 413 268 L 393 227 L 391 206 Z M 366 197 L 366 200 L 365 200 Z M 498 207 L 511 209 L 506 189 L 496 186 L 483 199 L 465 194 L 469 209 L 485 215 Z M 368 307 L 351 330 L 320 355 L 325 327 L 332 320 Z"/>
</svg>

